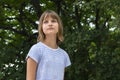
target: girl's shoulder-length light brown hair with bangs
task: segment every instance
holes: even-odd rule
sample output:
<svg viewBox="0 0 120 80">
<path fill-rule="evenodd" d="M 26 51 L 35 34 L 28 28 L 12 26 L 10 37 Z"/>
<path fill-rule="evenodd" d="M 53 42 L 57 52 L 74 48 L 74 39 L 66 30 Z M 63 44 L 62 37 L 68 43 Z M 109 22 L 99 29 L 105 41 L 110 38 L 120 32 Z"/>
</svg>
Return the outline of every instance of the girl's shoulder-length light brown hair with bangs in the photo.
<svg viewBox="0 0 120 80">
<path fill-rule="evenodd" d="M 43 32 L 42 29 L 42 25 L 43 25 L 43 20 L 46 19 L 47 17 L 52 17 L 53 19 L 56 19 L 58 22 L 58 33 L 57 33 L 57 44 L 59 42 L 62 42 L 64 37 L 63 37 L 63 25 L 62 25 L 62 21 L 60 19 L 60 17 L 58 16 L 58 14 L 52 10 L 46 10 L 40 17 L 39 19 L 39 25 L 38 25 L 38 38 L 37 41 L 44 41 L 45 40 L 45 34 Z"/>
</svg>

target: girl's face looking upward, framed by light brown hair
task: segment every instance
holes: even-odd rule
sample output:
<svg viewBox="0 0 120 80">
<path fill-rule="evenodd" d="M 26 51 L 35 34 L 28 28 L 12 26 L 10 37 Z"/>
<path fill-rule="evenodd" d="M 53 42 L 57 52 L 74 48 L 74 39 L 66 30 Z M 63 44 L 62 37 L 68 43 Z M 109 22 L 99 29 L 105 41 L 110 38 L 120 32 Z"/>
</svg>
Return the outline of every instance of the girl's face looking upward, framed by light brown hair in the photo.
<svg viewBox="0 0 120 80">
<path fill-rule="evenodd" d="M 57 34 L 58 33 L 58 22 L 56 19 L 48 16 L 47 18 L 45 18 L 43 20 L 43 25 L 42 25 L 42 29 L 43 29 L 43 33 L 45 35 L 48 34 Z"/>
</svg>

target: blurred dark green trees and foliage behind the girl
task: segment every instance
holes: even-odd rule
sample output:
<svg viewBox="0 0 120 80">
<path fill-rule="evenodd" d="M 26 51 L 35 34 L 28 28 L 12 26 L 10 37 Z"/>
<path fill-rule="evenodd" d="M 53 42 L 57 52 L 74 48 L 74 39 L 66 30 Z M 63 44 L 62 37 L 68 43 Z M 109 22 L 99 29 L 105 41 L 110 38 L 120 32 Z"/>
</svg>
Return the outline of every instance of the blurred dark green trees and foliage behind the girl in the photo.
<svg viewBox="0 0 120 80">
<path fill-rule="evenodd" d="M 0 80 L 25 80 L 46 9 L 63 21 L 60 47 L 72 62 L 65 80 L 120 80 L 120 0 L 0 0 Z"/>
</svg>

